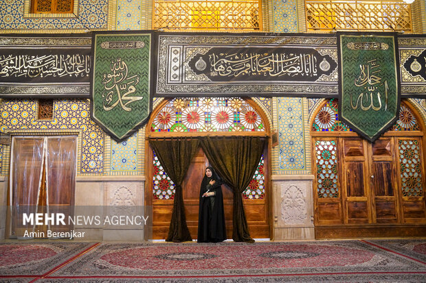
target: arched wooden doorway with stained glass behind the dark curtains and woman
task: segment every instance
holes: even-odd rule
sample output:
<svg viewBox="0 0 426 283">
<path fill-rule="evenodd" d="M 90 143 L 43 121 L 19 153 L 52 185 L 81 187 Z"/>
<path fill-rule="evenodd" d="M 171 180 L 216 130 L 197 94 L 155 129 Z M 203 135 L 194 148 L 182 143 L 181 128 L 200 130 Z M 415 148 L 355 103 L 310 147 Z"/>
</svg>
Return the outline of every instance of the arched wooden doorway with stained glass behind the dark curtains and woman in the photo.
<svg viewBox="0 0 426 283">
<path fill-rule="evenodd" d="M 146 127 L 146 190 L 145 203 L 153 207 L 153 238 L 166 238 L 173 206 L 173 184 L 162 171 L 149 138 L 203 136 L 270 136 L 269 119 L 252 99 L 175 98 L 164 99 L 151 114 Z M 249 232 L 254 238 L 269 238 L 269 143 L 263 151 L 258 170 L 243 193 Z M 190 189 L 184 203 L 187 225 L 192 238 L 197 238 L 198 193 L 208 160 L 202 149 L 190 165 L 186 181 Z M 232 193 L 223 186 L 228 235 L 232 234 Z"/>
</svg>

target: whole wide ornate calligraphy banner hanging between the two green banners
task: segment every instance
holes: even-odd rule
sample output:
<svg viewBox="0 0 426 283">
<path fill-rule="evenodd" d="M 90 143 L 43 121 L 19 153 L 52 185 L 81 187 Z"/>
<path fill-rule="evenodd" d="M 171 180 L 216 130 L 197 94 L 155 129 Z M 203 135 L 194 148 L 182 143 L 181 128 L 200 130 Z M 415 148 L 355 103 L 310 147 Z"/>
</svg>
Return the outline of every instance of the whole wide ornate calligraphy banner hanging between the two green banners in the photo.
<svg viewBox="0 0 426 283">
<path fill-rule="evenodd" d="M 155 95 L 337 97 L 333 36 L 157 34 Z"/>
</svg>

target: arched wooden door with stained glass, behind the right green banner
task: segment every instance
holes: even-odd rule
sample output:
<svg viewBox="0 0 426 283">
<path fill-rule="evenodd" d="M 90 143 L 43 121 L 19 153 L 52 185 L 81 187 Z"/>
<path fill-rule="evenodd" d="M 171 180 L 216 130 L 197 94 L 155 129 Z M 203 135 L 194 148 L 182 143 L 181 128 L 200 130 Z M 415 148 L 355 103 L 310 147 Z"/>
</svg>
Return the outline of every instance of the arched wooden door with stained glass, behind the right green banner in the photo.
<svg viewBox="0 0 426 283">
<path fill-rule="evenodd" d="M 425 125 L 407 101 L 374 143 L 339 121 L 337 99 L 311 118 L 315 238 L 426 233 Z"/>
</svg>

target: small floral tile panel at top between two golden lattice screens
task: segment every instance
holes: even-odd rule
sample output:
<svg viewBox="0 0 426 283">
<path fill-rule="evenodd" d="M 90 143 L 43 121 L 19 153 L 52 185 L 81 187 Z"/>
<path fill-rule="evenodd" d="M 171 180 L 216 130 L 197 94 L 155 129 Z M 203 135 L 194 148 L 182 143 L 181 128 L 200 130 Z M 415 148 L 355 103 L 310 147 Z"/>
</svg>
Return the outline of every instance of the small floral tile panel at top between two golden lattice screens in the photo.
<svg viewBox="0 0 426 283">
<path fill-rule="evenodd" d="M 273 32 L 298 32 L 297 0 L 273 1 Z"/>
</svg>

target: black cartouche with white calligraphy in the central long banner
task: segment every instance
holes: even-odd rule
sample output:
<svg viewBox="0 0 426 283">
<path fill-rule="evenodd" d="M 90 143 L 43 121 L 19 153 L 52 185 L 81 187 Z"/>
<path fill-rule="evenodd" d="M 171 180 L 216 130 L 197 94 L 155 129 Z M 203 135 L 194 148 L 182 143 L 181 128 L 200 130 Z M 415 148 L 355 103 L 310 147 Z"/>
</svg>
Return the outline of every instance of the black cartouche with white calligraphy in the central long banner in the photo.
<svg viewBox="0 0 426 283">
<path fill-rule="evenodd" d="M 212 48 L 190 60 L 197 75 L 204 74 L 213 82 L 232 81 L 315 81 L 330 75 L 337 64 L 330 56 L 313 49 L 293 48 Z"/>
</svg>

